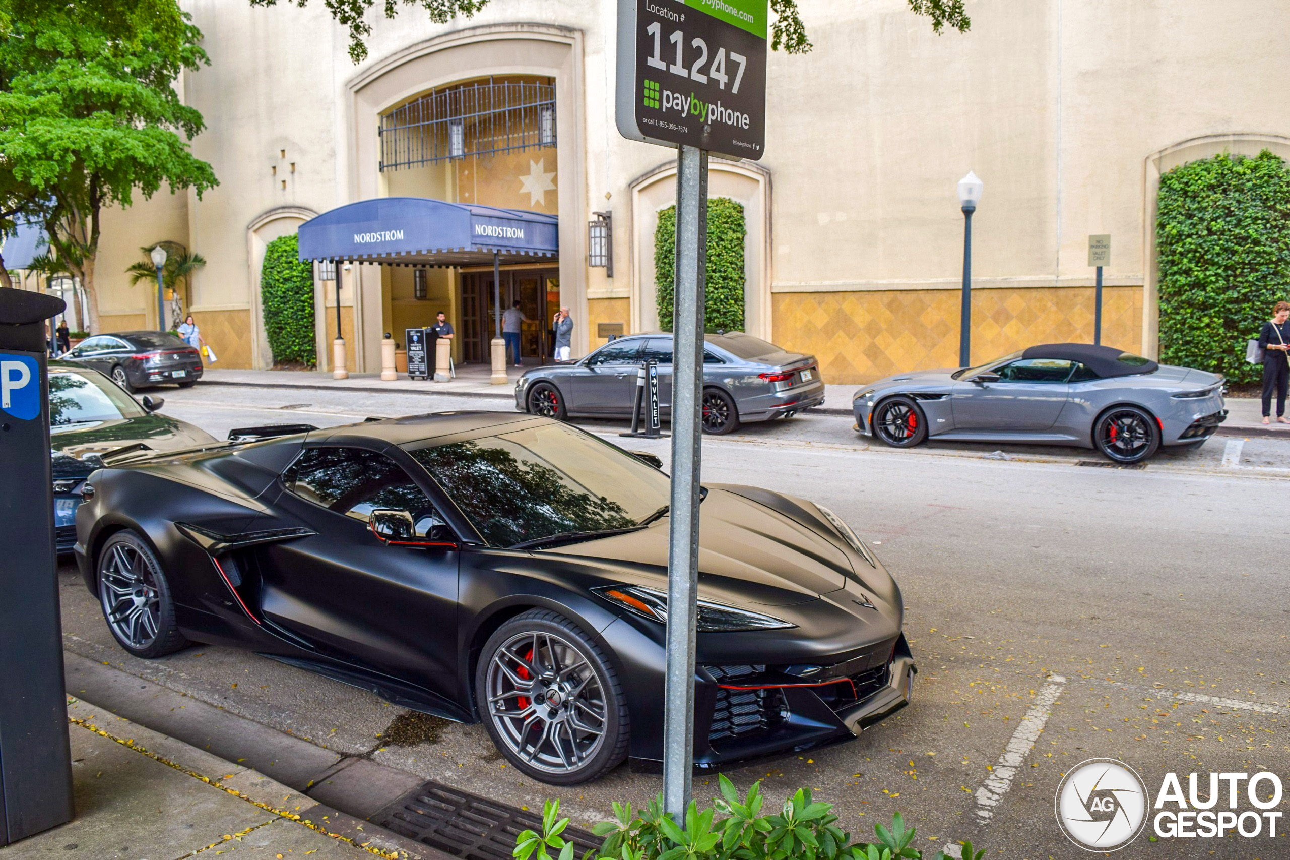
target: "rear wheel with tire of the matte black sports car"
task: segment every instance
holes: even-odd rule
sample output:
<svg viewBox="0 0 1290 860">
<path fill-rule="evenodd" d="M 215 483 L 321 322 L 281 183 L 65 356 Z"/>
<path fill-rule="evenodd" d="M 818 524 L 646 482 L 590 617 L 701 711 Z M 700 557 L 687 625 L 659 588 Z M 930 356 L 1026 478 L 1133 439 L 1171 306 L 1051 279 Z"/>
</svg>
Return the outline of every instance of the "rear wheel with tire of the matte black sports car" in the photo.
<svg viewBox="0 0 1290 860">
<path fill-rule="evenodd" d="M 188 646 L 174 617 L 170 584 L 147 541 L 132 531 L 107 538 L 95 559 L 103 620 L 116 643 L 135 657 L 164 657 Z"/>
</svg>

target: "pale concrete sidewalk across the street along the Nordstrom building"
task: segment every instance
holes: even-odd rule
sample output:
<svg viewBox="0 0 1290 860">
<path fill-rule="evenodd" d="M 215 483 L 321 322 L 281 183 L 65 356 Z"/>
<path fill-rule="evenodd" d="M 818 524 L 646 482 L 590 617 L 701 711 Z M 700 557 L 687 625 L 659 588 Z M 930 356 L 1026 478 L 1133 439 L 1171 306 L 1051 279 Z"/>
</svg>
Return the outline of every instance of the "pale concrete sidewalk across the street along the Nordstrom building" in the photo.
<svg viewBox="0 0 1290 860">
<path fill-rule="evenodd" d="M 489 368 L 459 367 L 457 378 L 450 382 L 431 382 L 428 380 L 409 380 L 400 374 L 392 382 L 383 382 L 377 373 L 351 373 L 347 380 L 333 380 L 330 373 L 317 371 L 224 371 L 209 369 L 200 385 L 245 385 L 261 389 L 317 389 L 322 391 L 362 391 L 368 394 L 399 393 L 409 394 L 450 394 L 468 398 L 488 398 L 513 403 L 515 381 L 519 378 L 515 368 L 507 368 L 508 382 L 491 385 Z M 862 385 L 826 385 L 824 404 L 811 409 L 817 415 L 851 415 L 851 398 L 862 390 Z M 1290 424 L 1263 425 L 1258 398 L 1228 398 L 1227 421 L 1219 427 L 1222 436 L 1286 438 L 1290 439 Z"/>
</svg>

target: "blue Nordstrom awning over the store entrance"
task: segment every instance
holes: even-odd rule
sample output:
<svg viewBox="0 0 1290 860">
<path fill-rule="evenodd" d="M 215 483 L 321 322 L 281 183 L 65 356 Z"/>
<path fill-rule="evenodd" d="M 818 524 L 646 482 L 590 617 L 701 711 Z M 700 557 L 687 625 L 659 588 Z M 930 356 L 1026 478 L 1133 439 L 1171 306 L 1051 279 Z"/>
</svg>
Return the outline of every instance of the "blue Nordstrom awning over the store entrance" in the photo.
<svg viewBox="0 0 1290 860">
<path fill-rule="evenodd" d="M 395 266 L 476 266 L 556 257 L 555 216 L 427 198 L 379 198 L 324 212 L 301 225 L 301 260 Z"/>
</svg>

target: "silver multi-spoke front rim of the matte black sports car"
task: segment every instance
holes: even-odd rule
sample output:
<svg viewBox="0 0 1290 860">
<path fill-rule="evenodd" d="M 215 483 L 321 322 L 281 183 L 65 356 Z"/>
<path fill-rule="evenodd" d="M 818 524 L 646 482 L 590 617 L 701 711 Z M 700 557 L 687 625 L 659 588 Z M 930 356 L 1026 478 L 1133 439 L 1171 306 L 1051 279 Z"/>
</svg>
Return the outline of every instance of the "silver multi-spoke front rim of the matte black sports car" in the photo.
<svg viewBox="0 0 1290 860">
<path fill-rule="evenodd" d="M 498 736 L 531 767 L 573 773 L 604 746 L 604 687 L 587 656 L 564 637 L 511 637 L 493 653 L 485 683 Z"/>
</svg>

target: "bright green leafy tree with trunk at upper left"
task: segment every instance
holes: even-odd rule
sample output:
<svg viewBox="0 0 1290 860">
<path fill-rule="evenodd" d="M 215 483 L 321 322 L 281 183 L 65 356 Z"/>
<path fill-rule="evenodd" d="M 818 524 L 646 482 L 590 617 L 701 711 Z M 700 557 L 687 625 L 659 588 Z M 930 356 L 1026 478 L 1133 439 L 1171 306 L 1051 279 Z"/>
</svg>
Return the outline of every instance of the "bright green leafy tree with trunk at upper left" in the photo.
<svg viewBox="0 0 1290 860">
<path fill-rule="evenodd" d="M 217 185 L 191 141 L 201 114 L 174 89 L 208 63 L 174 0 L 0 0 L 0 230 L 45 226 L 99 331 L 94 263 L 104 207 Z"/>
</svg>

